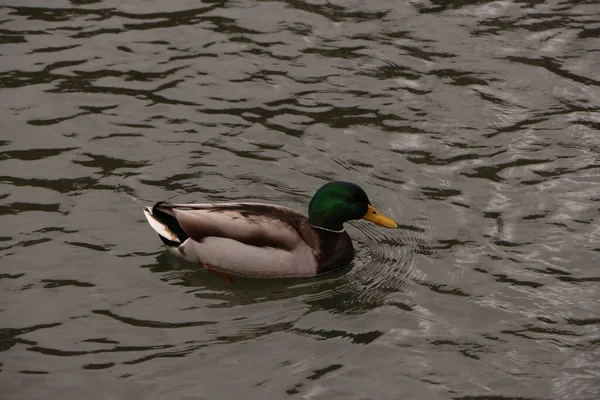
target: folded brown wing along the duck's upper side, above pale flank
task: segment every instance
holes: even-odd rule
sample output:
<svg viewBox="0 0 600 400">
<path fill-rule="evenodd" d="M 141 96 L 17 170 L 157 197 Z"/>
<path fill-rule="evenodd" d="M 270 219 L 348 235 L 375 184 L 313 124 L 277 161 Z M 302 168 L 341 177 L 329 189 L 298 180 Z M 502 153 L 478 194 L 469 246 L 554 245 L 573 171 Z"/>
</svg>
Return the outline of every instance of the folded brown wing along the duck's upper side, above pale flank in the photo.
<svg viewBox="0 0 600 400">
<path fill-rule="evenodd" d="M 303 214 L 272 204 L 158 203 L 152 213 L 172 216 L 181 230 L 197 242 L 222 237 L 251 246 L 288 251 L 299 245 L 308 245 L 317 251 L 319 246 L 318 236 Z"/>
</svg>

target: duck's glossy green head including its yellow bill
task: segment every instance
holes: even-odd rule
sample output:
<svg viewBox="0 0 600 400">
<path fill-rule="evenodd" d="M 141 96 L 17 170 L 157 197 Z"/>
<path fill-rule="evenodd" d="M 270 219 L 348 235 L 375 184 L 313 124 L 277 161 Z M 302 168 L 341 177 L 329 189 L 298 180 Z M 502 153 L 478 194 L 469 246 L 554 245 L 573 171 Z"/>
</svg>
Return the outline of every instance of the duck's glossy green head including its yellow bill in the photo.
<svg viewBox="0 0 600 400">
<path fill-rule="evenodd" d="M 398 227 L 392 219 L 375 210 L 364 190 L 350 182 L 323 185 L 308 205 L 308 222 L 319 228 L 342 231 L 344 222 L 361 218 L 387 228 Z"/>
</svg>

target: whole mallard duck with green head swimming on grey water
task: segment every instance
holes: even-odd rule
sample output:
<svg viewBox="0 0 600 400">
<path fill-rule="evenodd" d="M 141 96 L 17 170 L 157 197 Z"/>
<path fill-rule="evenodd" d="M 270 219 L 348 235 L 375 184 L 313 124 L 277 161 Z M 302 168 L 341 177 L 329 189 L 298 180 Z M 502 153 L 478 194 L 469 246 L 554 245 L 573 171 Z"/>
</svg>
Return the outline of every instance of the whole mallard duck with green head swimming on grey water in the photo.
<svg viewBox="0 0 600 400">
<path fill-rule="evenodd" d="M 262 203 L 170 204 L 146 207 L 150 226 L 175 255 L 217 272 L 249 277 L 311 277 L 347 266 L 354 257 L 344 222 L 366 219 L 398 228 L 359 186 L 323 185 L 308 218 Z"/>
</svg>

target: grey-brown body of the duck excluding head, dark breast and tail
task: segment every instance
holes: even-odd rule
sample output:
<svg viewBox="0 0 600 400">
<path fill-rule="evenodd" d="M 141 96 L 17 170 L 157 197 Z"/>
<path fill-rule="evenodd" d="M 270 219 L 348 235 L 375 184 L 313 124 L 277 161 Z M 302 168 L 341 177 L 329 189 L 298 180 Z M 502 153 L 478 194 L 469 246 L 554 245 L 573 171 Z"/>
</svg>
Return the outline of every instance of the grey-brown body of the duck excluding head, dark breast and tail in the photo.
<svg viewBox="0 0 600 400">
<path fill-rule="evenodd" d="M 177 222 L 187 238 L 169 248 L 188 261 L 245 276 L 317 274 L 319 237 L 293 209 L 261 203 L 158 203 L 152 215 Z"/>
</svg>

